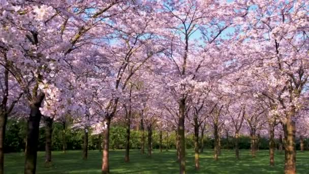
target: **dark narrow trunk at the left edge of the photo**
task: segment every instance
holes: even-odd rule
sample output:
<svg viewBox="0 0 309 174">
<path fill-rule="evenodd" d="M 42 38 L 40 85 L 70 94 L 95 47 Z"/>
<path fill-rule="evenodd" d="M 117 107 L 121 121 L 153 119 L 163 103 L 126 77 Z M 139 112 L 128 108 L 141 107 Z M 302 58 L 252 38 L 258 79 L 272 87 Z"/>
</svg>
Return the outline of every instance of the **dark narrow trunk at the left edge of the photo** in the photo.
<svg viewBox="0 0 309 174">
<path fill-rule="evenodd" d="M 0 174 L 4 173 L 4 141 L 6 135 L 6 125 L 8 114 L 5 112 L 0 115 Z"/>
</svg>

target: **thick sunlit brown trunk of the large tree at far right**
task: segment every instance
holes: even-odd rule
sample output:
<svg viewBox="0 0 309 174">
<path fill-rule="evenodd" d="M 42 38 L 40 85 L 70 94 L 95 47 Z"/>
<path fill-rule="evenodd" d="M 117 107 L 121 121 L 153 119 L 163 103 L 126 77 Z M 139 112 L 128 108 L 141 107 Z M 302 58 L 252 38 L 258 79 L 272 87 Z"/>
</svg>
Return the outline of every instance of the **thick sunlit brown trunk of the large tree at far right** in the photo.
<svg viewBox="0 0 309 174">
<path fill-rule="evenodd" d="M 286 174 L 296 173 L 295 122 L 292 117 L 293 114 L 287 115 L 287 121 L 284 123 Z"/>
</svg>

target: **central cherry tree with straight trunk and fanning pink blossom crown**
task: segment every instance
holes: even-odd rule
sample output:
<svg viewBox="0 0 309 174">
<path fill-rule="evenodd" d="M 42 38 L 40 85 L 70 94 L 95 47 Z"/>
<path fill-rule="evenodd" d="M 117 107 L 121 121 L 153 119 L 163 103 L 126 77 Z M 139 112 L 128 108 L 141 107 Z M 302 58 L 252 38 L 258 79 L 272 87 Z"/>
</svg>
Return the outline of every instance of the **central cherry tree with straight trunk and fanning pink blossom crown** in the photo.
<svg viewBox="0 0 309 174">
<path fill-rule="evenodd" d="M 166 59 L 169 62 L 168 65 L 173 65 L 173 67 L 169 67 L 169 83 L 175 84 L 175 86 L 171 86 L 170 90 L 174 92 L 175 100 L 179 106 L 179 170 L 180 173 L 185 173 L 184 120 L 188 102 L 187 87 L 190 86 L 187 82 L 200 73 L 200 68 L 208 63 L 211 53 L 219 51 L 216 44 L 223 41 L 221 35 L 232 23 L 232 15 L 238 16 L 234 8 L 238 8 L 239 5 L 214 1 L 166 1 L 159 7 L 158 15 L 160 15 L 160 22 L 164 26 L 162 33 L 169 48 L 169 51 L 166 52 Z M 241 14 L 241 16 L 243 15 Z M 201 43 L 194 39 L 198 33 L 202 35 Z M 202 56 L 200 56 L 201 54 Z M 224 57 L 220 58 L 216 60 L 223 61 Z"/>
</svg>

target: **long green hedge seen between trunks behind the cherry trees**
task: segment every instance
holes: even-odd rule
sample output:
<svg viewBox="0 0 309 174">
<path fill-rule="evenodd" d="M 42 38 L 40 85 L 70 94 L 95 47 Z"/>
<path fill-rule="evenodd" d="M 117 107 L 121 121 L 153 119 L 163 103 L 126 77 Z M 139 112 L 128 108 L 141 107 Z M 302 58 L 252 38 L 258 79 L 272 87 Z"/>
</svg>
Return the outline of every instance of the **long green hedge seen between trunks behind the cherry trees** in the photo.
<svg viewBox="0 0 309 174">
<path fill-rule="evenodd" d="M 113 122 L 113 126 L 110 129 L 110 149 L 111 150 L 124 150 L 126 149 L 126 127 L 124 122 Z M 115 125 L 114 125 L 115 124 Z M 42 126 L 44 126 L 42 124 Z M 26 134 L 26 121 L 15 119 L 8 120 L 7 123 L 7 134 L 4 142 L 5 153 L 10 152 L 24 152 L 25 148 L 25 134 Z M 140 150 L 141 149 L 141 138 L 142 131 L 138 130 L 139 127 L 134 126 L 130 130 L 130 149 Z M 159 130 L 159 131 L 157 131 Z M 42 127 L 39 133 L 39 144 L 38 151 L 45 151 L 45 128 Z M 88 143 L 86 146 L 87 150 L 102 150 L 102 135 L 92 135 L 92 130 L 88 133 Z M 144 136 L 147 137 L 147 132 L 144 132 Z M 161 136 L 162 133 L 162 136 Z M 225 133 L 220 134 L 220 149 L 232 150 L 234 148 L 234 138 L 229 135 L 225 137 Z M 201 136 L 199 137 L 201 139 Z M 64 141 L 65 140 L 65 141 Z M 174 151 L 176 148 L 176 133 L 175 131 L 160 131 L 157 125 L 152 128 L 152 138 L 151 138 L 152 149 L 162 149 L 162 151 L 169 151 L 170 149 Z M 303 140 L 303 142 L 301 142 Z M 309 139 L 296 139 L 296 150 L 305 151 L 309 149 Z M 258 150 L 268 150 L 269 149 L 269 139 L 264 136 L 257 136 L 257 149 Z M 283 152 L 281 148 L 281 139 L 275 139 L 275 149 Z M 186 149 L 194 149 L 194 133 L 189 131 L 186 133 Z M 203 146 L 202 146 L 203 143 Z M 303 143 L 303 146 L 300 146 Z M 147 138 L 145 139 L 145 144 L 147 144 Z M 65 137 L 63 137 L 63 126 L 60 123 L 55 122 L 52 126 L 52 139 L 51 139 L 51 149 L 52 151 L 63 151 L 66 153 L 71 150 L 82 150 L 84 145 L 84 131 L 81 129 L 73 129 L 70 126 L 66 129 Z M 147 147 L 148 148 L 148 147 Z M 200 141 L 199 144 L 200 153 L 204 149 L 208 151 L 214 148 L 214 137 L 211 129 L 207 131 L 204 135 L 203 142 Z M 202 149 L 203 148 L 203 149 Z M 251 138 L 250 135 L 240 135 L 239 138 L 239 149 L 250 150 L 251 151 Z M 82 155 L 82 154 L 81 154 Z M 52 158 L 53 159 L 53 158 Z M 52 160 L 54 161 L 54 160 Z M 48 166 L 48 165 L 47 165 Z"/>
</svg>

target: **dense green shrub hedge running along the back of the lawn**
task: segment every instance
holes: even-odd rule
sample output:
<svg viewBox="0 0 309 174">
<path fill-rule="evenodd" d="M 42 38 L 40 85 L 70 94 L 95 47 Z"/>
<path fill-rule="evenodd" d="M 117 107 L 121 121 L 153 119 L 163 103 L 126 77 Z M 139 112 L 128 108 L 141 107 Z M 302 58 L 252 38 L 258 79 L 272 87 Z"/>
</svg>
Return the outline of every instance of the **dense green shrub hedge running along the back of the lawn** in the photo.
<svg viewBox="0 0 309 174">
<path fill-rule="evenodd" d="M 24 120 L 8 120 L 6 127 L 6 137 L 5 137 L 5 152 L 22 152 L 25 147 L 26 138 L 26 122 Z M 130 132 L 130 147 L 131 149 L 140 149 L 141 147 L 141 131 L 131 130 Z M 68 128 L 66 130 L 66 143 L 67 150 L 80 150 L 83 144 L 83 130 L 72 130 Z M 100 140 L 101 136 L 101 140 Z M 166 149 L 167 146 L 167 132 L 163 132 L 162 148 Z M 53 123 L 52 131 L 52 150 L 61 151 L 63 147 L 63 126 L 59 123 Z M 152 148 L 159 149 L 159 131 L 152 131 Z M 201 140 L 201 138 L 200 138 Z M 91 130 L 89 131 L 88 138 L 88 148 L 89 150 L 99 149 L 103 141 L 102 135 L 91 135 Z M 250 149 L 251 139 L 249 136 L 240 136 L 239 138 L 239 149 Z M 279 140 L 276 140 L 277 147 L 279 147 Z M 126 145 L 126 128 L 122 126 L 112 125 L 110 128 L 110 149 L 125 149 Z M 200 143 L 201 145 L 201 143 Z M 259 139 L 259 149 L 266 150 L 269 146 L 269 140 L 267 138 Z M 223 149 L 233 149 L 234 139 L 233 137 L 222 138 L 221 147 Z M 309 139 L 304 140 L 305 149 L 309 149 Z M 169 132 L 169 149 L 176 148 L 176 134 L 175 131 Z M 186 148 L 194 148 L 194 135 L 186 135 Z M 213 139 L 211 137 L 204 137 L 204 149 L 213 148 Z M 45 150 L 45 129 L 40 128 L 39 135 L 39 151 Z M 145 149 L 147 149 L 147 131 L 145 130 Z M 296 149 L 300 149 L 300 142 L 297 140 Z"/>
</svg>

